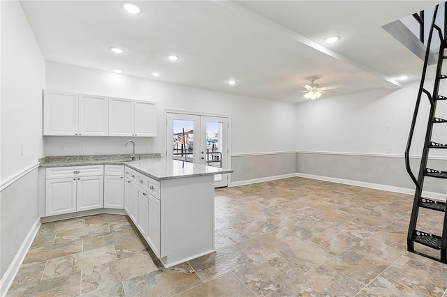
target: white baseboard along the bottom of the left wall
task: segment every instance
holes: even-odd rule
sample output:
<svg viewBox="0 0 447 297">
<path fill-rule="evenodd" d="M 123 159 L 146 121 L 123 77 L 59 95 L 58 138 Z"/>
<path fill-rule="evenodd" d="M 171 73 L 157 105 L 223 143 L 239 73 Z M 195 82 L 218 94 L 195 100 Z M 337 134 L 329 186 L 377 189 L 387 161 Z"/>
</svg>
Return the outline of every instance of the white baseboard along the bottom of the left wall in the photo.
<svg viewBox="0 0 447 297">
<path fill-rule="evenodd" d="M 6 270 L 3 277 L 0 280 L 0 296 L 5 296 L 9 287 L 13 283 L 15 275 L 19 271 L 20 266 L 22 266 L 22 262 L 27 255 L 29 248 L 31 247 L 31 243 L 33 243 L 34 238 L 37 235 L 37 232 L 41 228 L 41 218 L 37 218 L 36 222 L 34 222 L 33 226 L 29 230 L 27 237 L 25 237 L 22 245 L 20 245 L 19 250 L 15 254 L 13 261 L 11 261 L 8 269 Z"/>
</svg>

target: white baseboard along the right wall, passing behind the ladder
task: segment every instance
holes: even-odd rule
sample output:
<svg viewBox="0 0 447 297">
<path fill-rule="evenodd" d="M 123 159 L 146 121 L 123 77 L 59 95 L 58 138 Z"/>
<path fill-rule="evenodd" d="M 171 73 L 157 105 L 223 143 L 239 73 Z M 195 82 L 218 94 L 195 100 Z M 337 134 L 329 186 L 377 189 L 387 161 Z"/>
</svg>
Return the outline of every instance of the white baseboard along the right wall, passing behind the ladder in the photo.
<svg viewBox="0 0 447 297">
<path fill-rule="evenodd" d="M 414 195 L 414 189 L 410 188 L 402 188 L 402 187 L 395 187 L 394 185 L 382 185 L 380 183 L 367 183 L 365 181 L 353 181 L 351 179 L 344 179 L 344 178 L 335 178 L 330 176 L 319 176 L 314 174 L 302 174 L 297 173 L 295 176 L 298 177 L 304 177 L 304 178 L 312 178 L 316 179 L 318 181 L 330 181 L 332 183 L 343 183 L 344 185 L 356 185 L 358 187 L 363 188 L 370 188 L 375 190 L 383 190 L 388 192 L 396 192 L 396 193 L 402 193 L 407 195 Z M 423 191 L 423 197 L 436 199 L 440 201 L 446 201 L 446 194 L 438 193 L 438 192 L 428 192 Z"/>
</svg>

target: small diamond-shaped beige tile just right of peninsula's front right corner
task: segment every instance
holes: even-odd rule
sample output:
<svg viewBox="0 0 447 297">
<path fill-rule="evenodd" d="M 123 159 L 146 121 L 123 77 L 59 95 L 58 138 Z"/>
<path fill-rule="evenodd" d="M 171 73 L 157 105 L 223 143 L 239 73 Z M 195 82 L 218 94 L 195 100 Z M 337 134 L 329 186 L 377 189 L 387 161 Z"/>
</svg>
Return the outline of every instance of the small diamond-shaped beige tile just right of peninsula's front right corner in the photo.
<svg viewBox="0 0 447 297">
<path fill-rule="evenodd" d="M 264 234 L 242 243 L 237 243 L 237 248 L 240 248 L 240 250 L 252 260 L 262 259 L 270 254 L 279 252 L 288 246 L 288 243 L 285 243 L 270 234 Z"/>
</svg>

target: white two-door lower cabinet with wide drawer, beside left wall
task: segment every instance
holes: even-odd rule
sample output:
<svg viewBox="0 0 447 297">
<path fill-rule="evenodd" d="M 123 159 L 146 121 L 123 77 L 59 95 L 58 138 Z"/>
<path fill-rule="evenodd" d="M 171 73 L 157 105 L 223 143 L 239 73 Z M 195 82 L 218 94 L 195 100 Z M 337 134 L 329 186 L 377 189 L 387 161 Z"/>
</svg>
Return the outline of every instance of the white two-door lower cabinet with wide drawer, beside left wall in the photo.
<svg viewBox="0 0 447 297">
<path fill-rule="evenodd" d="M 102 208 L 104 166 L 46 169 L 45 216 Z"/>
</svg>

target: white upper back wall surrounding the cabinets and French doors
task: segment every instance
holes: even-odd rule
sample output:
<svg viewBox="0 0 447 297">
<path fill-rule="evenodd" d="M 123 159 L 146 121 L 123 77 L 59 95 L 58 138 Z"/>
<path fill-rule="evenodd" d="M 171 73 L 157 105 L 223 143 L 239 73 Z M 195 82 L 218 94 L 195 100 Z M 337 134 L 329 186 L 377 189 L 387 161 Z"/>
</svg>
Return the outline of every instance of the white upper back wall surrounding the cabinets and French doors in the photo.
<svg viewBox="0 0 447 297">
<path fill-rule="evenodd" d="M 236 86 L 237 87 L 237 86 Z M 137 139 L 137 152 L 162 153 L 166 139 L 163 109 L 231 117 L 232 153 L 294 151 L 295 107 L 231 93 L 196 89 L 150 79 L 47 61 L 47 89 L 158 102 L 158 137 Z M 126 137 L 44 137 L 45 155 L 129 153 Z M 79 150 L 82 144 L 84 151 Z M 60 151 L 64 145 L 66 150 Z M 149 145 L 149 151 L 145 146 Z"/>
</svg>

